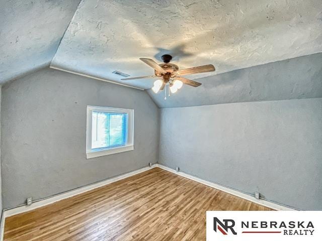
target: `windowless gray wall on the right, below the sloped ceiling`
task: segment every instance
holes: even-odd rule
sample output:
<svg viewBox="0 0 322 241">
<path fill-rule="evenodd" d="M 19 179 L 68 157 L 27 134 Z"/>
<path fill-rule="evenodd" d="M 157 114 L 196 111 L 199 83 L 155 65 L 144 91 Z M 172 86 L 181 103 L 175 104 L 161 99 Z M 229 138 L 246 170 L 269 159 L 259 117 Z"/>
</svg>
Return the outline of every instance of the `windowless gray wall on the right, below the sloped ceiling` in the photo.
<svg viewBox="0 0 322 241">
<path fill-rule="evenodd" d="M 303 210 L 322 210 L 322 98 L 160 111 L 159 162 Z"/>
</svg>

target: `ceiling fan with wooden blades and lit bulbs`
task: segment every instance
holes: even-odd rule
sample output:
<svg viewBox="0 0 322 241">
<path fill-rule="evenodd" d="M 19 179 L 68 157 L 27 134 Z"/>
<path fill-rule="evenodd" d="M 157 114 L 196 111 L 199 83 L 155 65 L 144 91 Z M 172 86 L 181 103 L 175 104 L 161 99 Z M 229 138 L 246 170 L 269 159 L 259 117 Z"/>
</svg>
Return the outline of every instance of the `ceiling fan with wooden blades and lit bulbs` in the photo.
<svg viewBox="0 0 322 241">
<path fill-rule="evenodd" d="M 157 93 L 159 90 L 163 90 L 166 85 L 169 85 L 171 93 L 176 93 L 183 84 L 188 84 L 193 87 L 198 87 L 199 85 L 201 85 L 201 83 L 181 77 L 181 75 L 215 71 L 215 67 L 212 64 L 179 70 L 179 67 L 177 65 L 170 64 L 170 61 L 172 60 L 171 55 L 165 54 L 161 58 L 164 62 L 163 64 L 157 64 L 152 59 L 140 58 L 141 61 L 154 69 L 154 75 L 125 78 L 121 80 L 162 78 L 154 81 L 152 90 Z"/>
</svg>

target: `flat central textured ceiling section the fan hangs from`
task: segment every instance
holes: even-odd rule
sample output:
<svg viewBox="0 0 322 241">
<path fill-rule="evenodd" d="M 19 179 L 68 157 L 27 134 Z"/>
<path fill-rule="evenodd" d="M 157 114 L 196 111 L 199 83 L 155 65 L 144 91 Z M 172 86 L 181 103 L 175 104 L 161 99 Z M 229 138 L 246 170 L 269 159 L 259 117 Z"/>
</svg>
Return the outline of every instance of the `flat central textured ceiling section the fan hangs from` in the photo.
<svg viewBox="0 0 322 241">
<path fill-rule="evenodd" d="M 216 72 L 322 52 L 322 1 L 101 1 L 79 5 L 52 66 L 150 88 L 139 57 L 172 54 L 180 68 L 213 64 Z M 202 81 L 201 81 L 202 82 Z"/>
</svg>

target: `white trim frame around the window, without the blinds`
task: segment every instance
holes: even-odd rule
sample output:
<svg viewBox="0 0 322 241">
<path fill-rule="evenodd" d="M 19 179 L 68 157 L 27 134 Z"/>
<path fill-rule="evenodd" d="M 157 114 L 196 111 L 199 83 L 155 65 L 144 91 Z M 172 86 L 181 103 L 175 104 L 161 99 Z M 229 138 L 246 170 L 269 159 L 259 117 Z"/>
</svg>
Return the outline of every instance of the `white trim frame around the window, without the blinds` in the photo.
<svg viewBox="0 0 322 241">
<path fill-rule="evenodd" d="M 92 112 L 93 110 L 102 111 L 102 112 L 128 113 L 128 123 L 127 123 L 128 134 L 127 134 L 127 144 L 125 146 L 92 151 Z M 134 126 L 133 109 L 120 109 L 120 108 L 99 107 L 99 106 L 88 105 L 87 106 L 87 127 L 86 127 L 86 159 L 134 150 L 133 126 Z"/>
</svg>

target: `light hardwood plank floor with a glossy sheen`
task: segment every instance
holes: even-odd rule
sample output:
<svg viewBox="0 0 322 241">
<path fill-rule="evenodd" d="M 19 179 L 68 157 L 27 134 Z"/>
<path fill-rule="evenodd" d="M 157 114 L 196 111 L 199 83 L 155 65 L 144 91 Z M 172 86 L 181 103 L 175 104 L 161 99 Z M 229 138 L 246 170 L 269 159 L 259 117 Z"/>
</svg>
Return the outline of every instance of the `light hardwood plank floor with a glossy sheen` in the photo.
<svg viewBox="0 0 322 241">
<path fill-rule="evenodd" d="M 160 168 L 6 218 L 5 240 L 206 240 L 206 210 L 270 210 Z"/>
</svg>

